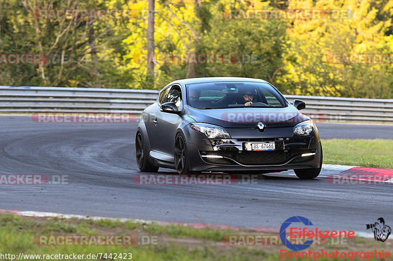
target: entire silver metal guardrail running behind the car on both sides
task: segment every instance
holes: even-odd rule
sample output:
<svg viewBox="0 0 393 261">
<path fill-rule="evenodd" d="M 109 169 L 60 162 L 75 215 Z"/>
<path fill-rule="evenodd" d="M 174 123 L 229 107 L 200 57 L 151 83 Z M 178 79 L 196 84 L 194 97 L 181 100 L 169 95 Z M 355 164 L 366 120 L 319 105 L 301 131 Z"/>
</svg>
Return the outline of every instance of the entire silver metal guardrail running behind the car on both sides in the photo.
<svg viewBox="0 0 393 261">
<path fill-rule="evenodd" d="M 140 113 L 157 90 L 0 86 L 0 112 Z M 393 99 L 285 95 L 306 102 L 303 113 L 319 121 L 393 123 Z"/>
</svg>

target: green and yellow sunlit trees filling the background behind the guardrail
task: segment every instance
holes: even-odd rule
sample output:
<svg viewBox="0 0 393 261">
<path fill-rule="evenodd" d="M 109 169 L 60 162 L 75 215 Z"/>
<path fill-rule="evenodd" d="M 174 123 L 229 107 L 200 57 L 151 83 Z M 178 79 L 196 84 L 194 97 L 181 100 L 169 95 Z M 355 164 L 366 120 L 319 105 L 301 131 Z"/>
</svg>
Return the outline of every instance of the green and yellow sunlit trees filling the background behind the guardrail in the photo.
<svg viewBox="0 0 393 261">
<path fill-rule="evenodd" d="M 263 78 L 287 94 L 393 97 L 392 64 L 328 59 L 332 53 L 393 53 L 393 0 L 157 0 L 155 6 L 155 53 L 231 54 L 232 63 L 155 64 L 151 77 L 138 61 L 147 53 L 146 13 L 128 20 L 33 16 L 36 9 L 146 10 L 146 0 L 1 0 L 0 53 L 65 54 L 69 61 L 0 64 L 0 84 L 161 89 L 174 79 L 204 74 Z M 272 8 L 349 9 L 353 16 L 230 20 L 224 15 L 228 9 Z"/>
</svg>

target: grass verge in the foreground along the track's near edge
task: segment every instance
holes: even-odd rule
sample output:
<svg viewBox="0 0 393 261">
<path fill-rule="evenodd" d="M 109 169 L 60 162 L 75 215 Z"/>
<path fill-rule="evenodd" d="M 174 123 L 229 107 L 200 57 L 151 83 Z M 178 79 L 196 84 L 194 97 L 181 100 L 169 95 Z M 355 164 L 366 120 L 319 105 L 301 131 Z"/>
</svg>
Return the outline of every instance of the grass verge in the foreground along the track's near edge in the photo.
<svg viewBox="0 0 393 261">
<path fill-rule="evenodd" d="M 226 246 L 222 242 L 224 235 L 248 234 L 231 230 L 214 230 L 212 228 L 195 229 L 183 225 L 160 226 L 158 224 L 142 224 L 133 222 L 120 222 L 116 220 L 80 220 L 80 219 L 56 219 L 21 217 L 12 214 L 0 213 L 0 253 L 10 253 L 16 256 L 19 253 L 35 255 L 84 255 L 112 253 L 132 253 L 132 260 L 157 260 L 157 261 L 277 261 L 280 260 L 281 246 L 255 246 L 239 247 Z M 36 235 L 158 235 L 157 245 L 134 245 L 134 246 L 78 246 L 58 245 L 40 246 L 34 244 L 33 237 Z M 367 242 L 366 242 L 367 241 Z M 374 239 L 361 240 L 355 244 L 342 246 L 341 251 L 365 251 L 382 247 L 376 246 Z M 325 246 L 332 248 L 329 246 Z M 318 251 L 311 247 L 311 251 Z M 335 248 L 335 247 L 333 247 Z M 336 246 L 336 249 L 340 246 Z M 328 249 L 329 252 L 334 252 Z M 114 260 L 113 258 L 97 260 Z M 27 260 L 27 259 L 25 259 Z M 39 260 L 39 259 L 28 259 Z M 42 259 L 41 259 L 42 260 Z M 87 260 L 87 259 L 84 259 Z M 119 260 L 117 258 L 117 260 Z M 299 259 L 305 261 L 308 259 Z M 318 259 L 325 261 L 327 259 Z M 355 259 L 358 260 L 358 259 Z"/>
</svg>

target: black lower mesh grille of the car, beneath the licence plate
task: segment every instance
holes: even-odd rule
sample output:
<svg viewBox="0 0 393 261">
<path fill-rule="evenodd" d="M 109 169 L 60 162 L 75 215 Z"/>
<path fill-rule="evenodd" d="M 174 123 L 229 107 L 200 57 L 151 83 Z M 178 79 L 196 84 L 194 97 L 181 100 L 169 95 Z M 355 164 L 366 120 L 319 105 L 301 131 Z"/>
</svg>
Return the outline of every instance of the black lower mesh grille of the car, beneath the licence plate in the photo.
<svg viewBox="0 0 393 261">
<path fill-rule="evenodd" d="M 243 165 L 277 165 L 286 163 L 292 157 L 296 157 L 302 153 L 307 153 L 309 150 L 278 150 L 278 151 L 214 151 L 214 152 L 201 152 L 201 155 L 220 155 L 229 157 Z M 225 164 L 225 159 L 218 158 L 204 158 L 212 163 Z M 229 162 L 228 162 L 229 163 Z M 228 164 L 226 163 L 226 164 Z M 232 164 L 235 164 L 232 162 Z"/>
</svg>

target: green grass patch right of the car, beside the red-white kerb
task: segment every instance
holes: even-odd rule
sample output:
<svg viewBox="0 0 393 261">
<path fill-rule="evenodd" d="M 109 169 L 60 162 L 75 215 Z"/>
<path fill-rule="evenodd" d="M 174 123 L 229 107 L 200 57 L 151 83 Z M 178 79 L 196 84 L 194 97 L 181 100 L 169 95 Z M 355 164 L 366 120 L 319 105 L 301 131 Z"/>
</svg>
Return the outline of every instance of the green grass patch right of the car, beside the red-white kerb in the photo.
<svg viewBox="0 0 393 261">
<path fill-rule="evenodd" d="M 323 163 L 393 169 L 393 140 L 322 140 Z"/>
</svg>

